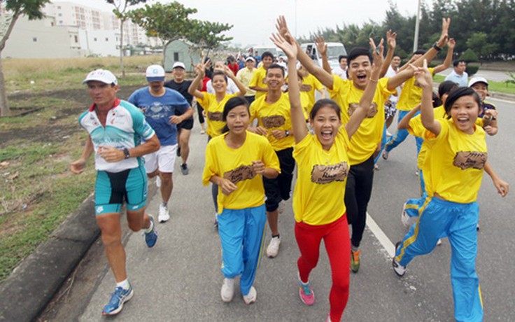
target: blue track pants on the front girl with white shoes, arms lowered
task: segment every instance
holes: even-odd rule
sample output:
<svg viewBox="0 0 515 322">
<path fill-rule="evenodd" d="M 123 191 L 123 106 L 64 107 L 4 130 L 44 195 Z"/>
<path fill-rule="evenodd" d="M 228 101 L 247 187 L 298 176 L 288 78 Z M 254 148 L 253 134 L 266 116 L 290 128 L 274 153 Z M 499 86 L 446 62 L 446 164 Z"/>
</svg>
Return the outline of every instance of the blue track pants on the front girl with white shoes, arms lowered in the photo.
<svg viewBox="0 0 515 322">
<path fill-rule="evenodd" d="M 247 295 L 254 283 L 263 247 L 267 214 L 264 204 L 246 209 L 223 209 L 218 215 L 222 243 L 222 274 L 232 279 L 241 274 L 241 294 Z"/>
</svg>

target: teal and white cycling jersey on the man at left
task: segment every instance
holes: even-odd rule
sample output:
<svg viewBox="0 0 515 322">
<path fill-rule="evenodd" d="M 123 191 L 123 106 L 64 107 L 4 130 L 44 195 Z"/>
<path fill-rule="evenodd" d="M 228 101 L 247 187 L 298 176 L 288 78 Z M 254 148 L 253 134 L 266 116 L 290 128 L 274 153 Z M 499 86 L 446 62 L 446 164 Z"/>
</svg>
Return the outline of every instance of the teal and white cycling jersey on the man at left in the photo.
<svg viewBox="0 0 515 322">
<path fill-rule="evenodd" d="M 143 158 L 128 158 L 118 162 L 106 162 L 98 154 L 99 147 L 112 146 L 122 150 L 134 148 L 141 144 L 141 139 L 148 140 L 155 135 L 154 130 L 145 120 L 143 113 L 129 102 L 116 99 L 103 127 L 94 110 L 94 104 L 82 113 L 78 119 L 81 127 L 90 134 L 94 146 L 95 169 L 107 172 L 121 172 L 141 165 Z"/>
</svg>

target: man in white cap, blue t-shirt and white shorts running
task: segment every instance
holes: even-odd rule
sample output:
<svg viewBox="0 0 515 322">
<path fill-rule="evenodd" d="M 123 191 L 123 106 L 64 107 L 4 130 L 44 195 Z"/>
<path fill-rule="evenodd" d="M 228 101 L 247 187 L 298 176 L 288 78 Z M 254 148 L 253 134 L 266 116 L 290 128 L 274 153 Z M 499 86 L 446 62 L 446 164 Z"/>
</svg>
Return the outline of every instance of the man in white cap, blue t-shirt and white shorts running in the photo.
<svg viewBox="0 0 515 322">
<path fill-rule="evenodd" d="M 155 130 L 161 148 L 145 155 L 145 169 L 149 178 L 160 177 L 162 202 L 157 221 L 169 221 L 168 201 L 174 188 L 174 173 L 177 152 L 177 125 L 193 114 L 190 104 L 176 90 L 164 87 L 164 69 L 160 65 L 150 65 L 146 71 L 148 86 L 131 94 L 129 102 L 138 106 L 148 124 Z"/>
</svg>

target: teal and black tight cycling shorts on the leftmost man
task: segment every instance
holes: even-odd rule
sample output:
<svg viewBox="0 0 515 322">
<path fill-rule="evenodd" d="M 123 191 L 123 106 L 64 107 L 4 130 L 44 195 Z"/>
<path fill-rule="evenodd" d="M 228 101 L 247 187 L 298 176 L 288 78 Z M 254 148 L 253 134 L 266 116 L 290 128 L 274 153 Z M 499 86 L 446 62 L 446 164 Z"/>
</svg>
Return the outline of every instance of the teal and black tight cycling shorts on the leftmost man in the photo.
<svg viewBox="0 0 515 322">
<path fill-rule="evenodd" d="M 137 211 L 145 206 L 147 174 L 143 166 L 122 172 L 97 172 L 94 187 L 95 214 L 120 213 L 124 201 L 129 211 Z"/>
</svg>

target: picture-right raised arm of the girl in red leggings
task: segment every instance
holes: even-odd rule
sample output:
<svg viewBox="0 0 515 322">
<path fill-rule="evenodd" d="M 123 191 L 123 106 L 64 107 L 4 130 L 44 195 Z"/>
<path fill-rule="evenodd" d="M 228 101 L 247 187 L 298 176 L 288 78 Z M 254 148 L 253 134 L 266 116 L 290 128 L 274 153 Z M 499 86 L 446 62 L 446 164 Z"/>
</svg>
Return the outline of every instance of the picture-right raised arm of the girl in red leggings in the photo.
<svg viewBox="0 0 515 322">
<path fill-rule="evenodd" d="M 348 139 L 351 139 L 353 134 L 358 130 L 362 121 L 367 116 L 367 113 L 370 109 L 370 105 L 372 105 L 372 99 L 374 99 L 374 94 L 376 94 L 377 82 L 379 81 L 379 73 L 381 71 L 381 66 L 383 65 L 383 39 L 379 43 L 379 48 L 376 48 L 376 44 L 370 38 L 370 46 L 372 47 L 372 52 L 374 55 L 374 64 L 372 66 L 372 74 L 370 75 L 370 79 L 368 81 L 367 87 L 365 87 L 365 92 L 360 99 L 360 104 L 358 109 L 352 113 L 351 118 L 348 120 L 348 123 L 345 125 L 345 130 L 347 132 Z M 376 50 L 379 49 L 379 50 Z"/>
</svg>

